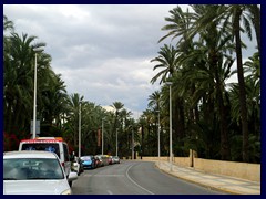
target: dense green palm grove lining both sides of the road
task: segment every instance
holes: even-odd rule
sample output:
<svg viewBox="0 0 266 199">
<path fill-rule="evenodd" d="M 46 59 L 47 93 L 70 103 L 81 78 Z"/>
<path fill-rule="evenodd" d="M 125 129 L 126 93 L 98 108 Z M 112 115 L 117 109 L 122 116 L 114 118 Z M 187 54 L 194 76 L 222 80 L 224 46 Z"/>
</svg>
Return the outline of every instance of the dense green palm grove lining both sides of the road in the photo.
<svg viewBox="0 0 266 199">
<path fill-rule="evenodd" d="M 3 17 L 3 147 L 18 149 L 29 138 L 33 112 L 34 59 L 38 54 L 37 118 L 40 136 L 63 137 L 78 151 L 81 107 L 82 151 L 100 154 L 99 130 L 104 126 L 104 149 L 115 154 L 119 135 L 121 157 L 134 148 L 140 156 L 157 156 L 160 121 L 161 156 L 168 156 L 170 87 L 172 82 L 173 153 L 201 158 L 260 163 L 260 8 L 255 4 L 178 6 L 170 10 L 158 39 L 162 46 L 151 62 L 157 74 L 151 83 L 161 88 L 149 96 L 149 107 L 135 121 L 122 102 L 113 112 L 68 94 L 60 74 L 51 67 L 45 43 L 37 36 L 18 34 L 13 22 Z M 257 45 L 257 52 L 243 61 L 248 49 L 242 35 Z M 172 42 L 163 43 L 166 39 Z M 237 82 L 228 83 L 232 75 Z M 160 116 L 160 117 L 158 117 Z"/>
</svg>

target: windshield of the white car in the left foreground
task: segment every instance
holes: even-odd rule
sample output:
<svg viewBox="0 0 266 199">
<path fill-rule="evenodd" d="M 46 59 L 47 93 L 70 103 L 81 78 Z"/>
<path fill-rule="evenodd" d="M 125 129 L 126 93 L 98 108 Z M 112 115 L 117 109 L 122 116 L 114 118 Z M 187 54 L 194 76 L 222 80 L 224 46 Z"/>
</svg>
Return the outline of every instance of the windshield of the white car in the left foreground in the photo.
<svg viewBox="0 0 266 199">
<path fill-rule="evenodd" d="M 58 159 L 3 159 L 3 180 L 63 179 Z"/>
</svg>

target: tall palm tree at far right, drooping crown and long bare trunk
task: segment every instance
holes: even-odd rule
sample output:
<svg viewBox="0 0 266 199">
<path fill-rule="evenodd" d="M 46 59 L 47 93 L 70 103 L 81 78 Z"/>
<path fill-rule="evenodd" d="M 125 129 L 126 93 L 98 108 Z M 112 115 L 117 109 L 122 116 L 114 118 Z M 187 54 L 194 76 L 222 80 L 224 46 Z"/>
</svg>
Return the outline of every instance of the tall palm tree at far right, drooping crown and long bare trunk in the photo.
<svg viewBox="0 0 266 199">
<path fill-rule="evenodd" d="M 252 10 L 252 12 L 250 12 Z M 259 31 L 259 18 L 257 6 L 246 6 L 246 4 L 233 4 L 233 6 L 223 6 L 221 11 L 217 12 L 217 17 L 224 17 L 225 27 L 228 24 L 228 21 L 232 22 L 232 33 L 235 39 L 235 51 L 236 51 L 236 63 L 237 63 L 237 77 L 239 84 L 239 102 L 241 102 L 241 118 L 242 118 L 242 134 L 243 134 L 243 161 L 249 160 L 248 155 L 248 119 L 247 119 L 247 105 L 246 105 L 246 90 L 245 90 L 245 78 L 243 70 L 243 57 L 242 57 L 242 40 L 241 40 L 241 21 L 244 21 L 245 33 L 252 40 L 252 29 L 250 29 L 250 18 L 246 14 L 252 15 L 252 22 L 255 23 L 255 30 L 257 35 L 258 48 L 260 49 L 260 34 Z M 249 12 L 248 12 L 249 11 Z M 255 22 L 256 21 L 256 22 Z"/>
</svg>

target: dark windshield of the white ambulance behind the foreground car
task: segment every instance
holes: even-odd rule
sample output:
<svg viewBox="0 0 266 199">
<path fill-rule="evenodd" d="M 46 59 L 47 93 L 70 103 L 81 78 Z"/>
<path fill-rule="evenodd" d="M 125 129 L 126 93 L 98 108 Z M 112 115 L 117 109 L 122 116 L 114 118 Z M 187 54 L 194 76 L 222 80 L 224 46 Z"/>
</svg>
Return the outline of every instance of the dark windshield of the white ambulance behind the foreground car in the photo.
<svg viewBox="0 0 266 199">
<path fill-rule="evenodd" d="M 60 157 L 59 153 L 59 144 L 53 143 L 24 143 L 22 145 L 21 150 L 45 150 L 45 151 L 53 151 Z"/>
</svg>

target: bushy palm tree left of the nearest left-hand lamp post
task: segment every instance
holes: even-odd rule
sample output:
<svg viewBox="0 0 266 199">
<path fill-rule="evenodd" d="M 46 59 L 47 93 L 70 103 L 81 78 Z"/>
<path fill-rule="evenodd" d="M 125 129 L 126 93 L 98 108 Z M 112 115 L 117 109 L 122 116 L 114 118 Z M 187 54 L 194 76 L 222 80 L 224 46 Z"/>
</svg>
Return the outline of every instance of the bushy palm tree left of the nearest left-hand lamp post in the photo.
<svg viewBox="0 0 266 199">
<path fill-rule="evenodd" d="M 32 44 L 35 39 L 37 36 L 28 36 L 28 34 L 22 34 L 20 38 L 17 33 L 11 33 L 7 40 L 8 48 L 4 45 L 4 116 L 7 118 L 4 129 L 7 132 L 29 129 L 32 113 L 34 50 L 45 46 L 44 43 Z M 14 129 L 16 126 L 20 129 Z"/>
</svg>

